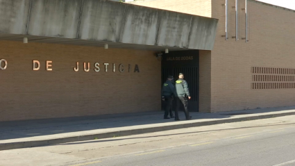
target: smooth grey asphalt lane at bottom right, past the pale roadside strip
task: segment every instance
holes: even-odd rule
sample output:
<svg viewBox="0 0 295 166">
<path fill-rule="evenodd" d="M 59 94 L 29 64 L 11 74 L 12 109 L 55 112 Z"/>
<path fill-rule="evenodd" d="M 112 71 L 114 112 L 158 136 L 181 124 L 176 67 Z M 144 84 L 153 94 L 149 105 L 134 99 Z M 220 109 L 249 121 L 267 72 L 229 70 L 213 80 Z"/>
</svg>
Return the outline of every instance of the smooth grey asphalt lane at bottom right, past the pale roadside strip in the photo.
<svg viewBox="0 0 295 166">
<path fill-rule="evenodd" d="M 81 165 L 295 165 L 295 128 L 289 126 L 210 142 L 111 156 Z"/>
</svg>

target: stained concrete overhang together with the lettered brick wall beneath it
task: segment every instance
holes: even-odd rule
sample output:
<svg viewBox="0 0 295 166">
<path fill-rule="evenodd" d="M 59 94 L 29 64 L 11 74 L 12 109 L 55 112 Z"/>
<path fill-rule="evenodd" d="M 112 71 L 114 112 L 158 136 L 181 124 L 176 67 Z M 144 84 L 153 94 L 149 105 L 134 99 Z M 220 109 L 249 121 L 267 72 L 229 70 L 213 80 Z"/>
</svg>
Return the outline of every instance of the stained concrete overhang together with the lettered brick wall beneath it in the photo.
<svg viewBox="0 0 295 166">
<path fill-rule="evenodd" d="M 0 5 L 0 121 L 160 110 L 158 53 L 211 50 L 218 22 L 108 0 Z"/>
</svg>

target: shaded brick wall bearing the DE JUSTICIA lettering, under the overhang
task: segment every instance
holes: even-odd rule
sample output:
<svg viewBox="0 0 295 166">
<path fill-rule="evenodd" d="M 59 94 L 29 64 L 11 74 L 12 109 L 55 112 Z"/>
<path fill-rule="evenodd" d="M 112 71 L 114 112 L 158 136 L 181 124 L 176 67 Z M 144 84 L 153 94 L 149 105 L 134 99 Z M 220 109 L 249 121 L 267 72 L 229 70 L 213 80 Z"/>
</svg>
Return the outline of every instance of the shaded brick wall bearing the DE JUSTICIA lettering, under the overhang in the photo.
<svg viewBox="0 0 295 166">
<path fill-rule="evenodd" d="M 0 41 L 0 53 L 8 61 L 0 70 L 0 121 L 160 110 L 160 61 L 152 51 Z M 33 60 L 40 70 L 33 71 Z M 46 60 L 53 71 L 46 71 Z M 96 62 L 100 72 L 94 72 Z M 108 72 L 103 63 L 110 64 Z M 133 72 L 135 64 L 140 73 Z"/>
</svg>

